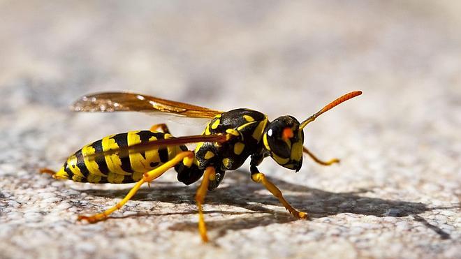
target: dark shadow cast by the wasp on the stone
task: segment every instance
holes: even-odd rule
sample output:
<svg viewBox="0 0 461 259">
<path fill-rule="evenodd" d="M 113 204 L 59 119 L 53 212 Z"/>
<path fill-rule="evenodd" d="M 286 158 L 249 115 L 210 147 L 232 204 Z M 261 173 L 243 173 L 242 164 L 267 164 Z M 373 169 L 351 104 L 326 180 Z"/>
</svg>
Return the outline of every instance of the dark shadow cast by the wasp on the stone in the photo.
<svg viewBox="0 0 461 259">
<path fill-rule="evenodd" d="M 271 225 L 273 223 L 288 223 L 296 221 L 284 209 L 270 209 L 270 207 L 282 207 L 277 198 L 268 193 L 264 186 L 256 184 L 249 179 L 249 172 L 237 170 L 226 175 L 226 184 L 221 186 L 216 191 L 207 193 L 205 200 L 206 205 L 228 205 L 233 207 L 241 207 L 247 209 L 245 212 L 232 212 L 222 210 L 206 210 L 205 214 L 219 213 L 231 215 L 249 215 L 247 217 L 238 216 L 236 219 L 228 220 L 214 220 L 207 221 L 207 227 L 210 230 L 217 230 L 218 236 L 226 235 L 228 230 L 242 230 L 256 228 L 258 226 Z M 415 221 L 423 223 L 427 228 L 434 230 L 442 239 L 449 239 L 450 235 L 444 230 L 441 230 L 436 225 L 432 225 L 425 221 L 423 217 L 418 216 L 423 212 L 427 212 L 433 208 L 420 202 L 406 202 L 402 200 L 385 200 L 380 198 L 368 198 L 358 194 L 370 192 L 363 189 L 355 192 L 346 193 L 333 193 L 330 191 L 322 191 L 317 188 L 302 186 L 300 184 L 293 184 L 274 177 L 268 177 L 271 182 L 277 185 L 284 197 L 288 200 L 293 207 L 300 209 L 300 211 L 307 212 L 309 218 L 316 219 L 330 215 L 351 213 L 360 215 L 372 216 L 412 216 Z M 96 196 L 103 196 L 108 198 L 123 198 L 129 191 L 129 188 L 119 190 L 100 190 L 100 189 L 87 189 L 82 190 L 85 193 Z M 171 182 L 156 181 L 152 183 L 151 188 L 142 188 L 131 200 L 141 201 L 160 201 L 175 204 L 189 204 L 195 205 L 194 195 L 196 192 L 196 185 L 193 186 L 177 186 Z M 293 194 L 291 194 L 293 193 Z M 162 216 L 171 214 L 196 214 L 196 210 L 189 210 L 187 212 L 175 213 L 152 213 L 152 212 L 139 212 L 135 215 L 111 217 L 111 218 L 125 218 L 132 216 Z M 270 215 L 268 215 L 270 214 Z M 170 227 L 170 230 L 181 231 L 196 231 L 196 222 L 183 222 L 176 223 Z"/>
</svg>

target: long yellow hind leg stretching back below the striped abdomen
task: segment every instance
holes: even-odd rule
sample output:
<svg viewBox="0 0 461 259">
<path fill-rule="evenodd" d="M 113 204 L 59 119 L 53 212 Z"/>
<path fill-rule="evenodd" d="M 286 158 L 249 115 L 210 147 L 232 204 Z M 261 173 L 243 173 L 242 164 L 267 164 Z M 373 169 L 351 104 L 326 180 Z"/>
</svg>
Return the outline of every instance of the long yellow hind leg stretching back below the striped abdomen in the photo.
<svg viewBox="0 0 461 259">
<path fill-rule="evenodd" d="M 107 219 L 107 217 L 112 214 L 112 212 L 115 212 L 117 209 L 120 209 L 127 201 L 129 201 L 133 195 L 138 192 L 139 188 L 144 184 L 145 182 L 152 182 L 154 179 L 160 177 L 163 175 L 164 172 L 166 172 L 168 169 L 173 168 L 177 163 L 180 163 L 183 161 L 184 164 L 191 164 L 193 162 L 193 151 L 183 151 L 177 154 L 173 159 L 170 161 L 164 163 L 163 165 L 160 165 L 158 168 L 155 168 L 154 170 L 151 170 L 149 172 L 146 172 L 142 179 L 139 180 L 139 182 L 136 183 L 133 188 L 129 191 L 129 193 L 121 200 L 120 202 L 117 203 L 114 207 L 111 207 L 110 209 L 105 210 L 104 212 L 94 214 L 92 216 L 78 216 L 78 221 L 86 220 L 89 223 L 96 223 L 98 221 L 102 221 L 104 219 Z"/>
</svg>

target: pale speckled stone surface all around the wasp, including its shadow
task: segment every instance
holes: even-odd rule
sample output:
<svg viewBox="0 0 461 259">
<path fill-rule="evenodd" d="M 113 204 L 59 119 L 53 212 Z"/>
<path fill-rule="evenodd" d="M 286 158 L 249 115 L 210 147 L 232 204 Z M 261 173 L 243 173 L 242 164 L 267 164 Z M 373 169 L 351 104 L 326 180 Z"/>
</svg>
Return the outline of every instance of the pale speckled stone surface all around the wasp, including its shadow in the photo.
<svg viewBox="0 0 461 259">
<path fill-rule="evenodd" d="M 458 1 L 2 1 L 0 258 L 461 258 L 461 4 Z M 175 172 L 93 225 L 130 185 L 59 182 L 66 156 L 105 135 L 168 121 L 83 114 L 94 91 L 130 90 L 219 110 L 298 119 L 360 96 L 305 129 L 300 172 L 270 158 L 209 193 L 201 244 L 197 185 Z"/>
</svg>

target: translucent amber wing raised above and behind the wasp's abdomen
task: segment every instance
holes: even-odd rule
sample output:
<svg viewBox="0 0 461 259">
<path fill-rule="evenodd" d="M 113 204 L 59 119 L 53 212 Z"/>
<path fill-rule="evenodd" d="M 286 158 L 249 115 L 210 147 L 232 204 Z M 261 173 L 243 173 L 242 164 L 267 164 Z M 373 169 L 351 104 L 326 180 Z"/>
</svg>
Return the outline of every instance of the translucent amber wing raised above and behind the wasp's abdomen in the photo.
<svg viewBox="0 0 461 259">
<path fill-rule="evenodd" d="M 125 92 L 105 92 L 82 96 L 73 103 L 71 109 L 77 112 L 166 112 L 193 118 L 212 118 L 222 113 L 188 103 Z"/>
</svg>

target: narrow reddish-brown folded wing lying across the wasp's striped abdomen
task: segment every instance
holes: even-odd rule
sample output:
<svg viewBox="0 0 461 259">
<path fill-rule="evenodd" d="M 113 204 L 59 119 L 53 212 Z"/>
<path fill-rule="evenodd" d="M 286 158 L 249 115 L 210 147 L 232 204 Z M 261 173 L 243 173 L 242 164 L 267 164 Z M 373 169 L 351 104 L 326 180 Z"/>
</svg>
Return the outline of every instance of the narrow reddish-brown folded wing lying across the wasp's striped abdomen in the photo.
<svg viewBox="0 0 461 259">
<path fill-rule="evenodd" d="M 160 140 L 153 140 L 150 142 L 140 142 L 136 145 L 128 147 L 118 147 L 115 149 L 109 149 L 106 151 L 99 151 L 94 154 L 88 154 L 85 158 L 90 160 L 100 156 L 108 156 L 117 154 L 119 157 L 129 156 L 130 153 L 139 153 L 149 151 L 152 149 L 160 149 L 161 147 L 179 146 L 197 142 L 226 142 L 230 138 L 229 135 L 190 135 L 178 138 L 166 138 Z"/>
</svg>

